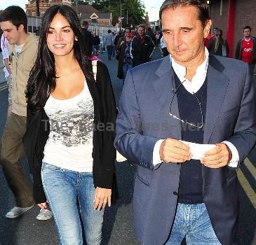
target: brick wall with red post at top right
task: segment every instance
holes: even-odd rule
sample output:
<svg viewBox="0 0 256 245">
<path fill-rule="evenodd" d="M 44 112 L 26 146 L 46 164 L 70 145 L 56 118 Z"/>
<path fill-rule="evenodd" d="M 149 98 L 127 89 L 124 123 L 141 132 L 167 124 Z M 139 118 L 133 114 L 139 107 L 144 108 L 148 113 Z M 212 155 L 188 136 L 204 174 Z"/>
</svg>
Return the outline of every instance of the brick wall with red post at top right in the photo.
<svg viewBox="0 0 256 245">
<path fill-rule="evenodd" d="M 255 0 L 211 0 L 210 17 L 213 27 L 223 31 L 223 37 L 229 43 L 229 57 L 234 57 L 237 41 L 243 37 L 243 27 L 252 27 L 252 36 L 256 36 Z"/>
</svg>

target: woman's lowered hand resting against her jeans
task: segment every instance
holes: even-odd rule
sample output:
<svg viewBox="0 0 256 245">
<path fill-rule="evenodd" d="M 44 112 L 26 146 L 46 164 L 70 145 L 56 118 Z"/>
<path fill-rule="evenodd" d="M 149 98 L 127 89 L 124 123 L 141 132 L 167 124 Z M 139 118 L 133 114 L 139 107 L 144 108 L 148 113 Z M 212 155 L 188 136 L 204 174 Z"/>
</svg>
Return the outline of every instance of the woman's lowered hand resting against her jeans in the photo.
<svg viewBox="0 0 256 245">
<path fill-rule="evenodd" d="M 107 204 L 110 207 L 111 206 L 111 194 L 112 194 L 111 189 L 97 187 L 95 190 L 95 195 L 94 195 L 94 199 L 93 199 L 94 209 L 97 209 L 100 211 L 100 209 L 101 208 L 104 209 Z"/>
</svg>

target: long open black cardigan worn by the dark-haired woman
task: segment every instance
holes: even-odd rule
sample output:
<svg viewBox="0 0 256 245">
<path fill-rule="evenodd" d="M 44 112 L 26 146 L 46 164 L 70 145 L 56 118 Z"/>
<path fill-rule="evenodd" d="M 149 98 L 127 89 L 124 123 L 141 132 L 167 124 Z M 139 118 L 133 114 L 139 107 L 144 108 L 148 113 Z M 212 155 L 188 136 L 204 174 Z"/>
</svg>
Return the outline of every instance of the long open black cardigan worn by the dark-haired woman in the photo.
<svg viewBox="0 0 256 245">
<path fill-rule="evenodd" d="M 89 69 L 92 71 L 91 64 L 89 64 Z M 95 188 L 112 189 L 112 202 L 114 203 L 117 196 L 114 167 L 116 104 L 112 83 L 107 66 L 102 62 L 97 62 L 96 82 L 93 76 L 88 76 L 87 73 L 85 76 L 94 104 L 93 183 Z M 23 144 L 29 169 L 33 174 L 33 195 L 36 204 L 46 202 L 41 181 L 41 164 L 49 132 L 50 124 L 45 111 L 42 109 L 34 114 L 27 106 L 27 132 L 23 137 Z"/>
</svg>

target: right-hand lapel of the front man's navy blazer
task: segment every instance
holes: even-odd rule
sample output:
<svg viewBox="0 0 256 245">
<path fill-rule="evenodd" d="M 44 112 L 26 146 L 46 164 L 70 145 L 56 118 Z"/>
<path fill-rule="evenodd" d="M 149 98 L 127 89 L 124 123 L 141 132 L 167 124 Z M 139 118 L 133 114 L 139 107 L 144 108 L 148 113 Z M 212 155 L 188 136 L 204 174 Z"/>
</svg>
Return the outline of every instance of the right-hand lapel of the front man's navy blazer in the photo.
<svg viewBox="0 0 256 245">
<path fill-rule="evenodd" d="M 213 56 L 209 56 L 207 72 L 207 104 L 203 143 L 208 144 L 213 133 L 223 100 L 229 85 L 229 78 L 222 75 L 224 67 Z"/>
</svg>

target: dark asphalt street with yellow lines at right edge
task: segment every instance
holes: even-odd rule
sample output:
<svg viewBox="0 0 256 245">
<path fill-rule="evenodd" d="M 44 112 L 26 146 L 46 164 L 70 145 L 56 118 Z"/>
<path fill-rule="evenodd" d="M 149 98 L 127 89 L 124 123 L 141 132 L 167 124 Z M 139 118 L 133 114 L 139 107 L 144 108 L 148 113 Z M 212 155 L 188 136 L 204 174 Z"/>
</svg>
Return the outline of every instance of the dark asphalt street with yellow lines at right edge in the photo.
<svg viewBox="0 0 256 245">
<path fill-rule="evenodd" d="M 154 53 L 154 58 L 160 57 L 159 50 Z M 109 68 L 112 84 L 116 96 L 116 104 L 122 90 L 122 81 L 116 78 L 117 61 L 107 60 L 107 54 L 101 59 Z M 1 66 L 1 65 L 0 65 Z M 1 74 L 2 69 L 0 69 Z M 1 75 L 0 75 L 1 76 Z M 1 81 L 1 77 L 0 77 Z M 0 136 L 6 122 L 7 89 L 1 89 L 0 83 Z M 255 151 L 256 152 L 256 151 Z M 240 184 L 238 186 L 241 200 L 241 213 L 236 245 L 256 245 L 256 153 L 250 154 L 245 160 L 245 165 L 238 171 Z M 27 172 L 27 164 L 22 160 Z M 105 211 L 102 244 L 111 245 L 137 245 L 133 230 L 133 182 L 135 167 L 128 162 L 116 163 L 116 174 L 119 185 L 119 202 L 115 207 Z M 29 174 L 27 173 L 29 178 Z M 38 207 L 27 211 L 24 216 L 14 220 L 4 218 L 8 209 L 15 205 L 13 195 L 6 186 L 6 181 L 0 167 L 0 245 L 50 245 L 58 244 L 53 220 L 37 221 Z M 152 210 L 154 211 L 154 210 Z"/>
</svg>

